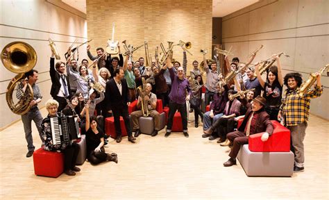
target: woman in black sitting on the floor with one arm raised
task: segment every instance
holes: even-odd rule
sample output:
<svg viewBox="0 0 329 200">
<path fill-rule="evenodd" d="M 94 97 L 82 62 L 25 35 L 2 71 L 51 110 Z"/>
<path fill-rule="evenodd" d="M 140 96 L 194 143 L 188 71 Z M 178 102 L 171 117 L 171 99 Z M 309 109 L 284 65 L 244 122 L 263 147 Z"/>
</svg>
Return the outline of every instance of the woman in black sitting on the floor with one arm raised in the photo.
<svg viewBox="0 0 329 200">
<path fill-rule="evenodd" d="M 87 142 L 87 159 L 92 165 L 97 165 L 110 160 L 118 163 L 117 153 L 105 153 L 104 133 L 101 128 L 97 128 L 97 119 L 89 117 L 89 106 L 85 106 L 85 131 Z"/>
</svg>

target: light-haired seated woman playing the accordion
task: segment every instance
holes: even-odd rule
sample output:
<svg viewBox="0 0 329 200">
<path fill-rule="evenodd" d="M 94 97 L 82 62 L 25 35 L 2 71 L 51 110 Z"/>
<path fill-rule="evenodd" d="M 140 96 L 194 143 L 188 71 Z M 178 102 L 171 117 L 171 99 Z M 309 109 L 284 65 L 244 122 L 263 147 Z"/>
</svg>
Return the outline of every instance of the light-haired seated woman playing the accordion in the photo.
<svg viewBox="0 0 329 200">
<path fill-rule="evenodd" d="M 69 176 L 76 175 L 76 172 L 80 172 L 80 168 L 76 167 L 76 158 L 80 148 L 78 144 L 72 141 L 62 142 L 61 144 L 53 144 L 53 138 L 51 134 L 51 117 L 64 117 L 62 113 L 58 113 L 59 103 L 56 100 L 49 99 L 46 102 L 46 108 L 48 115 L 42 120 L 42 137 L 44 138 L 44 150 L 46 151 L 60 151 L 64 153 L 64 173 Z"/>
</svg>

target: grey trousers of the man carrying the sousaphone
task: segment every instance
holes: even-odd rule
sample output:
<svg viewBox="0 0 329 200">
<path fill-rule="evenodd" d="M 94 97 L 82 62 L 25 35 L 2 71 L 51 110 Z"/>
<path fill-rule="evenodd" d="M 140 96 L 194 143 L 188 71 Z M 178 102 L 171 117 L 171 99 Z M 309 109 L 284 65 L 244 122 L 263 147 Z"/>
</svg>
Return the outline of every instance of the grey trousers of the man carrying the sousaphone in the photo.
<svg viewBox="0 0 329 200">
<path fill-rule="evenodd" d="M 41 131 L 41 123 L 42 123 L 42 116 L 39 109 L 30 110 L 28 113 L 22 115 L 22 122 L 24 125 L 24 132 L 25 132 L 25 139 L 28 143 L 28 151 L 33 151 L 35 147 L 33 146 L 33 137 L 32 137 L 32 120 L 37 126 L 37 131 L 39 132 L 40 139 L 42 143 L 44 142 L 44 138 L 42 138 L 42 131 Z"/>
</svg>

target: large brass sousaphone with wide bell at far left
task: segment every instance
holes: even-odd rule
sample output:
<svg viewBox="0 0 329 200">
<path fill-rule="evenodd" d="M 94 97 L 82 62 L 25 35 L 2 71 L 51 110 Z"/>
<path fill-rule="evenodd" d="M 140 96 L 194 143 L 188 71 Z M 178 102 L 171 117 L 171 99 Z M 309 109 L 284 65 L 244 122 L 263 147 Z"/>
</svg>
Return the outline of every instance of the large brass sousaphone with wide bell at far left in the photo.
<svg viewBox="0 0 329 200">
<path fill-rule="evenodd" d="M 8 107 L 17 115 L 24 115 L 30 110 L 30 102 L 33 100 L 33 89 L 30 84 L 27 85 L 25 95 L 17 103 L 12 100 L 12 92 L 17 83 L 22 81 L 25 72 L 31 71 L 37 63 L 37 53 L 30 44 L 25 42 L 11 42 L 1 51 L 1 61 L 3 66 L 10 72 L 16 73 L 15 78 L 10 81 L 6 92 L 6 101 Z"/>
</svg>

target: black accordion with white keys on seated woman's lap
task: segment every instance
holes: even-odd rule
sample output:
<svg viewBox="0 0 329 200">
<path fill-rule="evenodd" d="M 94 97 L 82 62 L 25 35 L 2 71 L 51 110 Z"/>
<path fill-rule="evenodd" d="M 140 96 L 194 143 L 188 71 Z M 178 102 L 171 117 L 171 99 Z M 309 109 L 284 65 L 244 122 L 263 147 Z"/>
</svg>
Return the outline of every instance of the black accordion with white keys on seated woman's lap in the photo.
<svg viewBox="0 0 329 200">
<path fill-rule="evenodd" d="M 77 116 L 51 117 L 50 124 L 54 145 L 81 138 Z"/>
</svg>

